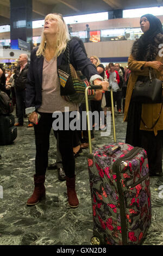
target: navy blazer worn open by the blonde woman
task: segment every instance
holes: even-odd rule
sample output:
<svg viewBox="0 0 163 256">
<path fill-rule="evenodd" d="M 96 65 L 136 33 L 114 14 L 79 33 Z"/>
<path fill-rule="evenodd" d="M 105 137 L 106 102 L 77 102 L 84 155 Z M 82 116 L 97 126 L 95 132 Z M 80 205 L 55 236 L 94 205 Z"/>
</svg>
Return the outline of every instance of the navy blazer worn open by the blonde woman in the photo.
<svg viewBox="0 0 163 256">
<path fill-rule="evenodd" d="M 35 107 L 35 110 L 41 106 L 42 102 L 43 56 L 36 56 L 37 49 L 34 48 L 30 54 L 26 87 L 26 108 Z M 76 70 L 82 71 L 87 80 L 90 80 L 90 77 L 93 75 L 98 75 L 95 65 L 87 58 L 76 39 L 70 41 L 70 62 Z M 57 58 L 57 66 L 61 64 L 67 64 L 64 53 L 61 53 Z"/>
</svg>

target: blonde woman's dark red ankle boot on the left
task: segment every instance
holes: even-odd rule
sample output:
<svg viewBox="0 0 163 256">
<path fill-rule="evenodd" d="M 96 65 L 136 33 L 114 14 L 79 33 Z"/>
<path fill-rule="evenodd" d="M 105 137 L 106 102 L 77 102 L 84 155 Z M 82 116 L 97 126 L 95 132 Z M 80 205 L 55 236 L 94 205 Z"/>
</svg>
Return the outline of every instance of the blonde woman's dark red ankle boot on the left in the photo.
<svg viewBox="0 0 163 256">
<path fill-rule="evenodd" d="M 34 175 L 34 184 L 35 184 L 35 189 L 33 192 L 32 197 L 30 197 L 27 201 L 27 205 L 35 205 L 39 203 L 39 200 L 42 197 L 45 197 L 45 175 Z"/>
</svg>

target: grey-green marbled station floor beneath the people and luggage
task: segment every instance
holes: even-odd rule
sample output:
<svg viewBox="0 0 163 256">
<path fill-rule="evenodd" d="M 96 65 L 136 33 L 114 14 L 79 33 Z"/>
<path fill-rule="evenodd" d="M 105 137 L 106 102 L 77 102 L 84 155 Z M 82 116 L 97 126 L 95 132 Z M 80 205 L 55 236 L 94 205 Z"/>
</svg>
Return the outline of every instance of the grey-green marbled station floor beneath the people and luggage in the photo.
<svg viewBox="0 0 163 256">
<path fill-rule="evenodd" d="M 122 114 L 116 116 L 117 142 L 124 142 L 126 123 Z M 49 163 L 55 162 L 56 141 L 51 133 Z M 113 142 L 113 135 L 101 137 L 95 132 L 93 148 Z M 88 149 L 76 158 L 79 207 L 67 204 L 65 181 L 59 181 L 56 170 L 46 173 L 46 200 L 27 207 L 33 192 L 35 172 L 35 141 L 33 128 L 18 127 L 14 144 L 1 146 L 0 185 L 0 245 L 90 245 L 92 236 L 92 206 L 87 172 Z M 151 178 L 152 224 L 143 245 L 163 245 L 162 194 L 163 178 Z M 160 193 L 159 193 L 160 192 Z"/>
</svg>

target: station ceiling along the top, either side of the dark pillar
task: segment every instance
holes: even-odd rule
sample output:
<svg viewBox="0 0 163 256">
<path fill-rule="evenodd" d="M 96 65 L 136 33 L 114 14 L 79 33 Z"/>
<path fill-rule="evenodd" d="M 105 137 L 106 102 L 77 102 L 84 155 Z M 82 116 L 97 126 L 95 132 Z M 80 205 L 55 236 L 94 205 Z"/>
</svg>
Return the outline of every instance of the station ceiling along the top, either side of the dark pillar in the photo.
<svg viewBox="0 0 163 256">
<path fill-rule="evenodd" d="M 21 0 L 20 0 L 21 1 Z M 135 9 L 163 5 L 163 0 L 33 0 L 33 20 L 48 13 L 64 16 L 100 13 L 117 9 Z M 10 0 L 0 0 L 0 25 L 10 23 Z"/>
</svg>

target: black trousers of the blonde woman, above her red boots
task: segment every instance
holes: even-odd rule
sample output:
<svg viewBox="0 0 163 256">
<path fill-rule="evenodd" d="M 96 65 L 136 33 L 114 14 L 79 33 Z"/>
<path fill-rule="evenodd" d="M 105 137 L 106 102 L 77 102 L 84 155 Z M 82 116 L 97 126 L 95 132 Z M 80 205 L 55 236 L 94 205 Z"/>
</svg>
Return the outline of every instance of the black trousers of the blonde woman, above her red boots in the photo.
<svg viewBox="0 0 163 256">
<path fill-rule="evenodd" d="M 35 168 L 36 175 L 45 175 L 48 166 L 49 134 L 51 132 L 52 124 L 55 118 L 52 118 L 52 113 L 40 114 L 41 117 L 39 123 L 34 125 L 36 144 Z M 72 131 L 70 129 L 54 131 L 55 136 L 59 141 L 59 150 L 62 156 L 62 164 L 65 170 L 65 174 L 68 176 L 68 178 L 73 178 L 75 173 L 75 160 L 73 155 L 74 132 L 76 131 Z"/>
</svg>

